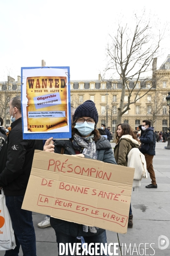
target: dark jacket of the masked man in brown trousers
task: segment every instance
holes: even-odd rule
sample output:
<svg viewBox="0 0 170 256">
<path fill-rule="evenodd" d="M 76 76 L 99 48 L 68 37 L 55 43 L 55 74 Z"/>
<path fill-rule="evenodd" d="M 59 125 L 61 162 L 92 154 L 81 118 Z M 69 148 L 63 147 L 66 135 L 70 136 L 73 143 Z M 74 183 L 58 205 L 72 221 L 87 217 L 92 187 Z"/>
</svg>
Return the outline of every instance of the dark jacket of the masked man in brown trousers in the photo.
<svg viewBox="0 0 170 256">
<path fill-rule="evenodd" d="M 144 131 L 140 141 L 143 144 L 149 144 L 149 150 L 143 150 L 141 147 L 140 151 L 141 153 L 147 153 L 148 155 L 155 156 L 156 139 L 153 130 L 154 127 L 149 127 Z"/>
</svg>

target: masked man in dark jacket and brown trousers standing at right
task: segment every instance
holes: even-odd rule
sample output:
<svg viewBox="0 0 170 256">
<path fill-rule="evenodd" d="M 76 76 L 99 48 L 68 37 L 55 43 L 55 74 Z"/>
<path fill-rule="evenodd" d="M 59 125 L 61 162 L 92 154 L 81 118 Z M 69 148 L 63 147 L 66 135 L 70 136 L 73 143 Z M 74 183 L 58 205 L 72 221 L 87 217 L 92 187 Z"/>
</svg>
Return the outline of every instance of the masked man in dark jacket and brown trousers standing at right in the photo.
<svg viewBox="0 0 170 256">
<path fill-rule="evenodd" d="M 153 156 L 155 156 L 155 146 L 156 138 L 154 135 L 154 127 L 151 127 L 151 122 L 149 120 L 143 120 L 141 129 L 143 134 L 141 135 L 139 141 L 141 142 L 141 147 L 139 148 L 141 153 L 144 154 L 147 163 L 147 171 L 150 174 L 152 180 L 151 184 L 145 186 L 146 188 L 157 188 L 155 172 L 153 170 Z"/>
</svg>

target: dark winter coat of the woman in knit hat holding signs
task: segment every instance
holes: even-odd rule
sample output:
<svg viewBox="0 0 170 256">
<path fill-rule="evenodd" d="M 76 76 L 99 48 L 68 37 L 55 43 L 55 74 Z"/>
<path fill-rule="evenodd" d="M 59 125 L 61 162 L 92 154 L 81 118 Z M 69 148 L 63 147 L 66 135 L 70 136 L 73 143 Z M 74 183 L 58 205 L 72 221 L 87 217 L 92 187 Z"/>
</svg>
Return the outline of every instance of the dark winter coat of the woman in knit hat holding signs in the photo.
<svg viewBox="0 0 170 256">
<path fill-rule="evenodd" d="M 116 164 L 115 158 L 112 152 L 112 147 L 109 143 L 109 141 L 101 137 L 98 139 L 98 141 L 95 142 L 96 145 L 96 153 L 98 156 L 98 160 L 111 163 L 111 164 Z M 64 154 L 66 155 L 75 155 L 75 150 L 72 146 L 72 141 L 70 140 L 56 140 L 55 141 L 55 153 L 60 154 L 61 153 L 61 148 L 64 148 Z M 86 158 L 89 158 L 85 156 Z M 114 166 L 113 166 L 114 168 Z M 56 232 L 61 232 L 65 235 L 72 235 L 74 237 L 76 236 L 93 236 L 93 235 L 98 235 L 102 232 L 104 232 L 104 229 L 99 228 L 97 233 L 92 233 L 92 232 L 84 232 L 83 231 L 83 225 L 77 224 L 74 222 L 69 222 L 69 221 L 63 221 L 57 218 L 52 218 L 50 217 L 50 224 L 54 228 Z"/>
</svg>

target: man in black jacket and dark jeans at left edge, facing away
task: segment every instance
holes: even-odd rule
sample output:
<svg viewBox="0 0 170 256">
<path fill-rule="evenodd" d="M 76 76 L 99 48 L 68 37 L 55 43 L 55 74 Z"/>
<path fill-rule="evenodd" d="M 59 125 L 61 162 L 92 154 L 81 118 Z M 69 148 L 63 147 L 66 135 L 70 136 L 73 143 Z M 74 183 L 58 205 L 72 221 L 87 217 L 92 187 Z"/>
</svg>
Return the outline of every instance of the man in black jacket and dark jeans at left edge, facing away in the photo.
<svg viewBox="0 0 170 256">
<path fill-rule="evenodd" d="M 32 168 L 35 141 L 23 140 L 20 97 L 12 98 L 9 107 L 12 129 L 0 151 L 0 189 L 3 188 L 6 197 L 16 247 L 5 255 L 18 255 L 21 245 L 23 255 L 36 256 L 32 212 L 21 209 Z"/>
</svg>

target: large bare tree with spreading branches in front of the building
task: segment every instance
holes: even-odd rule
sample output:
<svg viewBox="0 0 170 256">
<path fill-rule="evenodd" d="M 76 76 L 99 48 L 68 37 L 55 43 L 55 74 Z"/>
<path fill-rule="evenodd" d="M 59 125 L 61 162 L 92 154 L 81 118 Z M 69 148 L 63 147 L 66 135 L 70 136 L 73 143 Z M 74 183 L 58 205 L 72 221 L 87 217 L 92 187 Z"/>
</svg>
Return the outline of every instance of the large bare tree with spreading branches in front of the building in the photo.
<svg viewBox="0 0 170 256">
<path fill-rule="evenodd" d="M 151 64 L 162 35 L 159 32 L 156 40 L 151 31 L 150 21 L 144 24 L 142 18 L 138 20 L 136 17 L 133 31 L 127 25 L 123 27 L 118 24 L 117 34 L 113 37 L 110 35 L 111 44 L 107 47 L 109 63 L 106 71 L 112 70 L 113 75 L 119 75 L 122 89 L 116 125 L 121 123 L 122 115 L 130 109 L 131 104 L 156 88 L 155 77 L 149 77 L 147 74 L 152 70 Z M 148 81 L 149 87 L 146 86 Z M 124 102 L 125 93 L 128 95 L 127 102 Z"/>
</svg>

